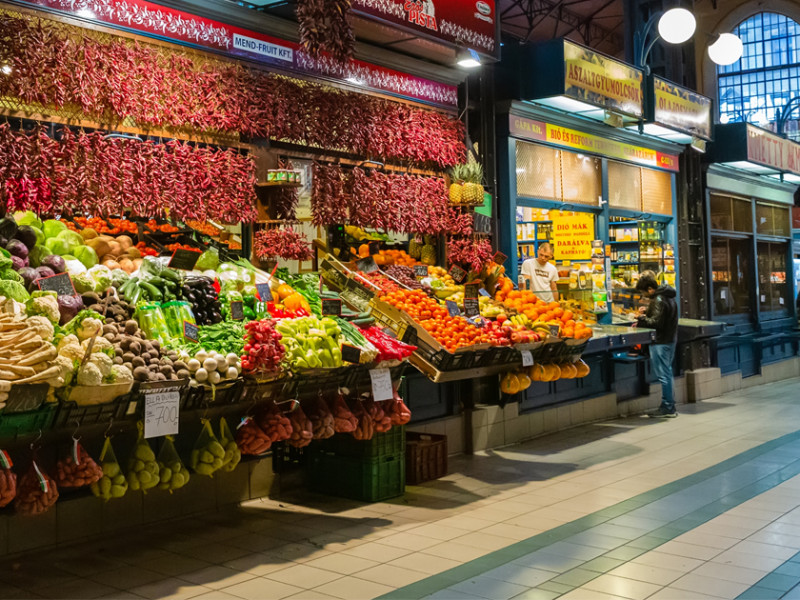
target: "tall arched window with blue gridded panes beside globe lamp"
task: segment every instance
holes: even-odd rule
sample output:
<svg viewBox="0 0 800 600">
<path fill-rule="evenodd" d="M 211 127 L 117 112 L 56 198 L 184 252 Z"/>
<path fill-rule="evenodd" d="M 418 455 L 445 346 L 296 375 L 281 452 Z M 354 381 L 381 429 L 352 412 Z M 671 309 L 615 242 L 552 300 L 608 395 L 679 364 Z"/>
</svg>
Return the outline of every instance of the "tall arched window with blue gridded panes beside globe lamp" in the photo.
<svg viewBox="0 0 800 600">
<path fill-rule="evenodd" d="M 770 127 L 776 113 L 800 94 L 800 25 L 777 13 L 763 12 L 733 31 L 744 43 L 742 58 L 717 67 L 719 119 Z M 800 138 L 796 110 L 784 132 Z M 773 127 L 774 128 L 774 127 Z"/>
</svg>

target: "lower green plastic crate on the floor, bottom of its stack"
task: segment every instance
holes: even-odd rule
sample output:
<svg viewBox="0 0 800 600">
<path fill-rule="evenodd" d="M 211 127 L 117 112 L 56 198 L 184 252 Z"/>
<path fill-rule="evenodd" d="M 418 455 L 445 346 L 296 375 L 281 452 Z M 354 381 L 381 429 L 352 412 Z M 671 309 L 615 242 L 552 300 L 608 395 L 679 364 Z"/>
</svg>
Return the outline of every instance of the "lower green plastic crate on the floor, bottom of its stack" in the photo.
<svg viewBox="0 0 800 600">
<path fill-rule="evenodd" d="M 315 452 L 308 464 L 312 490 L 362 502 L 400 496 L 406 485 L 404 454 L 361 459 Z"/>
</svg>

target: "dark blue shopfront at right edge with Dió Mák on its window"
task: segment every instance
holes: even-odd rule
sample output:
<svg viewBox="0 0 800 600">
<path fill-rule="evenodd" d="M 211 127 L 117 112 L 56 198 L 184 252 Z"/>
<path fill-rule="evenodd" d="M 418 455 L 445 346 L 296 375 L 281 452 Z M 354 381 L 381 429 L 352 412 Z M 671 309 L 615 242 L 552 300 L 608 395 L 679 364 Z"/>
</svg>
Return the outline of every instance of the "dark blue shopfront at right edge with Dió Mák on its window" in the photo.
<svg viewBox="0 0 800 600">
<path fill-rule="evenodd" d="M 712 319 L 723 373 L 760 372 L 797 353 L 792 208 L 800 145 L 753 125 L 720 125 L 706 174 Z"/>
</svg>

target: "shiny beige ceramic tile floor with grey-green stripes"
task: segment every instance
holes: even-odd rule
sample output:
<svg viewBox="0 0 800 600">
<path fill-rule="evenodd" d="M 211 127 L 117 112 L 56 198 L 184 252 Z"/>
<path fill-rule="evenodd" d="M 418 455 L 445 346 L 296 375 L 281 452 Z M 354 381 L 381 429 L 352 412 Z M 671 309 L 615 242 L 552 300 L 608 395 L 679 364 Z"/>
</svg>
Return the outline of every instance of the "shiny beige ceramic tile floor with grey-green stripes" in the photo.
<svg viewBox="0 0 800 600">
<path fill-rule="evenodd" d="M 0 563 L 0 598 L 800 599 L 800 380 Z"/>
</svg>

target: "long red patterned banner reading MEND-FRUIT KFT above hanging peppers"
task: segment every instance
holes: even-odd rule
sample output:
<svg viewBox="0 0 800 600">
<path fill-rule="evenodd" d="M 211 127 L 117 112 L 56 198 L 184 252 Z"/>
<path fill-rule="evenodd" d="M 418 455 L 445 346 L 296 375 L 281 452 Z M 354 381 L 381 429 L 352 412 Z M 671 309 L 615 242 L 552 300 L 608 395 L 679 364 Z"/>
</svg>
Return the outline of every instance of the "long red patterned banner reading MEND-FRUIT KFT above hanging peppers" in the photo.
<svg viewBox="0 0 800 600">
<path fill-rule="evenodd" d="M 146 36 L 224 52 L 288 72 L 347 82 L 443 107 L 458 106 L 456 86 L 359 60 L 342 65 L 327 55 L 316 59 L 306 54 L 295 42 L 146 0 L 25 0 L 24 3 Z M 458 4 L 458 0 L 450 0 L 450 3 Z"/>
</svg>

